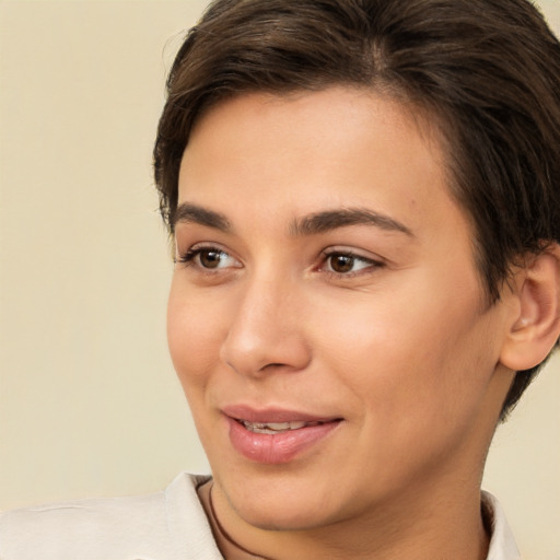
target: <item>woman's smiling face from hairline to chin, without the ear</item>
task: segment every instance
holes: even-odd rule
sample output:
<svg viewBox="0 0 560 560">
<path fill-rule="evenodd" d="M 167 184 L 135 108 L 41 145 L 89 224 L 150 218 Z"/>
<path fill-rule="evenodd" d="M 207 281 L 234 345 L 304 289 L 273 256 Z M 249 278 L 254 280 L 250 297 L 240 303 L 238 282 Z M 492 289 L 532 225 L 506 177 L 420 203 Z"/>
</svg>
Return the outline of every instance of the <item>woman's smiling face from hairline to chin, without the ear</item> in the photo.
<svg viewBox="0 0 560 560">
<path fill-rule="evenodd" d="M 405 107 L 332 88 L 212 108 L 175 231 L 170 348 L 232 515 L 320 527 L 479 483 L 504 313 Z"/>
</svg>

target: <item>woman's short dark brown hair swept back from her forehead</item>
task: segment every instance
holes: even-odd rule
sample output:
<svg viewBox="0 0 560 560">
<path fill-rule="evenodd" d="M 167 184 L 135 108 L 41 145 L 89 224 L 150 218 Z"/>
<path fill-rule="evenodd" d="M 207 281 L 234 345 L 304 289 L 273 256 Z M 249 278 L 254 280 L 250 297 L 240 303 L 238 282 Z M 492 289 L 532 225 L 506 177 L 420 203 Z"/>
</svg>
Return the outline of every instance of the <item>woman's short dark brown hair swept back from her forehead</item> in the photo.
<svg viewBox="0 0 560 560">
<path fill-rule="evenodd" d="M 560 242 L 560 45 L 526 0 L 215 0 L 177 54 L 158 129 L 170 231 L 203 110 L 245 92 L 336 84 L 382 89 L 432 116 L 490 304 L 517 259 Z M 502 419 L 540 365 L 517 372 Z"/>
</svg>

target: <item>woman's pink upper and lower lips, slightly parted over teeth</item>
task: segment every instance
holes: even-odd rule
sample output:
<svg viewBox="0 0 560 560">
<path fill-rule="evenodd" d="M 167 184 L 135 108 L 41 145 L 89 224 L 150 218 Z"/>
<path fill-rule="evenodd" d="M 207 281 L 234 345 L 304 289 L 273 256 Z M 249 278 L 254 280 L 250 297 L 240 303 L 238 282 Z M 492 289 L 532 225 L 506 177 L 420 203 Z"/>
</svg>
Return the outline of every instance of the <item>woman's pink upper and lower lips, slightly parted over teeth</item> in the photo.
<svg viewBox="0 0 560 560">
<path fill-rule="evenodd" d="M 269 465 L 292 460 L 340 424 L 339 418 L 318 418 L 279 409 L 257 411 L 248 407 L 228 407 L 222 412 L 235 451 L 249 460 Z M 242 421 L 259 424 L 305 422 L 306 425 L 278 433 L 258 433 L 246 428 Z"/>
</svg>

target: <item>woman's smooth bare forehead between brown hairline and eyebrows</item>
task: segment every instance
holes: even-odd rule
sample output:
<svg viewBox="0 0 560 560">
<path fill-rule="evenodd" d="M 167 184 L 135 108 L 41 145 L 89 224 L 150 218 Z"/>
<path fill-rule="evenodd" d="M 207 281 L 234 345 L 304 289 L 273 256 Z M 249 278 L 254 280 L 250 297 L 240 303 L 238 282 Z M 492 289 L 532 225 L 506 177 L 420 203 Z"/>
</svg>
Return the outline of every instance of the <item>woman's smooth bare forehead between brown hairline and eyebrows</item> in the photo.
<svg viewBox="0 0 560 560">
<path fill-rule="evenodd" d="M 378 203 L 398 198 L 394 202 L 413 210 L 447 185 L 439 136 L 416 107 L 371 90 L 238 96 L 196 122 L 182 161 L 179 202 L 247 194 L 262 206 L 275 194 L 291 194 L 295 206 L 329 197 L 343 205 L 345 197 L 364 195 Z"/>
</svg>

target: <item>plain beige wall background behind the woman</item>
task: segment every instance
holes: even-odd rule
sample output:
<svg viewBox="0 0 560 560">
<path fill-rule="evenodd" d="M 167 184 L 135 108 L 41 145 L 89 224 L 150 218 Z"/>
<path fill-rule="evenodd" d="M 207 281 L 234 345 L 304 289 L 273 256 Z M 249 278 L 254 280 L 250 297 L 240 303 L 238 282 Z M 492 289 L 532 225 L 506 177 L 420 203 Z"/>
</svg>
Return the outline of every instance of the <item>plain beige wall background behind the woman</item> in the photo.
<svg viewBox="0 0 560 560">
<path fill-rule="evenodd" d="M 206 1 L 0 2 L 0 508 L 207 470 L 167 358 L 151 179 L 164 75 Z M 560 1 L 542 1 L 560 30 Z M 486 487 L 560 560 L 560 360 L 500 429 Z"/>
</svg>

